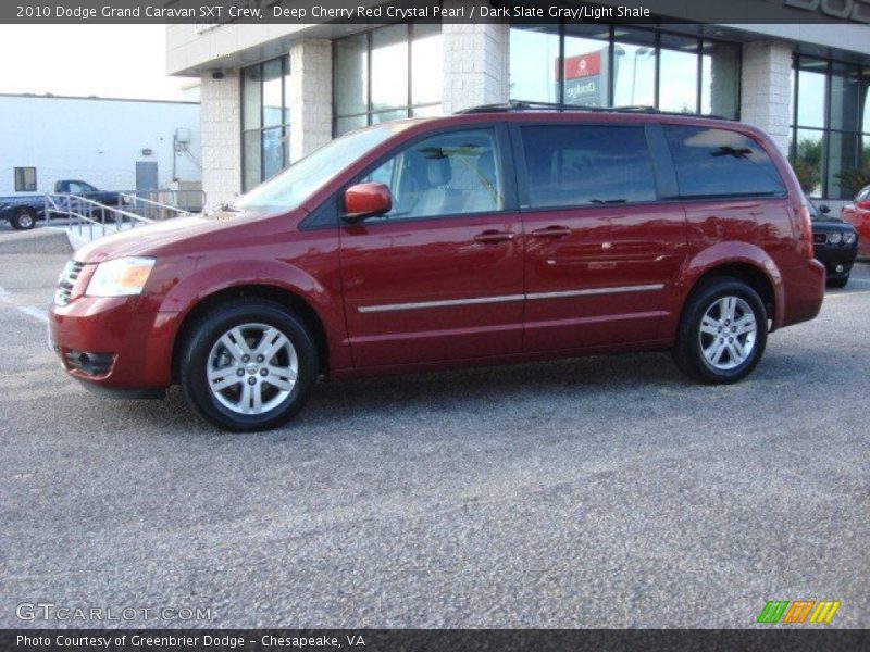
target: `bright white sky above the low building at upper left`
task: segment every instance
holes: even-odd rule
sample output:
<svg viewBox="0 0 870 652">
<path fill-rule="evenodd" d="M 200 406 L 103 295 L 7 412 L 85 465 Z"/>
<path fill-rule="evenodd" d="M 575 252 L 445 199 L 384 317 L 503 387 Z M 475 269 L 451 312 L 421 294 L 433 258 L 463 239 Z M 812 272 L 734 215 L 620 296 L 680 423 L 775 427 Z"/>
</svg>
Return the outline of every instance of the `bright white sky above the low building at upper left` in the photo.
<svg viewBox="0 0 870 652">
<path fill-rule="evenodd" d="M 164 25 L 0 25 L 0 93 L 185 99 Z"/>
</svg>

